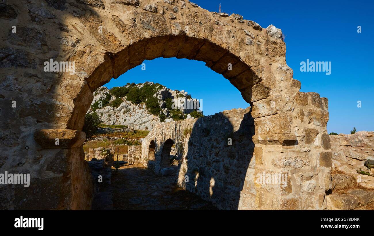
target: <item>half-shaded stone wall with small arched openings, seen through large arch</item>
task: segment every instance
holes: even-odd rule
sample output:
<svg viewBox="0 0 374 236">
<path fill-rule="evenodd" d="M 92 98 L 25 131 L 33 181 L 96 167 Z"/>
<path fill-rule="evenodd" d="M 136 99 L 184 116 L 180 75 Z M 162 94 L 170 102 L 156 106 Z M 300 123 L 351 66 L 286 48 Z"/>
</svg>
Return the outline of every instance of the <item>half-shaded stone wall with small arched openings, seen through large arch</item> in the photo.
<svg viewBox="0 0 374 236">
<path fill-rule="evenodd" d="M 141 162 L 160 174 L 165 141 L 172 139 L 180 162 L 178 186 L 212 201 L 220 209 L 253 209 L 253 134 L 254 121 L 249 108 L 161 123 L 143 140 Z M 151 140 L 156 144 L 155 161 L 148 158 Z"/>
</svg>

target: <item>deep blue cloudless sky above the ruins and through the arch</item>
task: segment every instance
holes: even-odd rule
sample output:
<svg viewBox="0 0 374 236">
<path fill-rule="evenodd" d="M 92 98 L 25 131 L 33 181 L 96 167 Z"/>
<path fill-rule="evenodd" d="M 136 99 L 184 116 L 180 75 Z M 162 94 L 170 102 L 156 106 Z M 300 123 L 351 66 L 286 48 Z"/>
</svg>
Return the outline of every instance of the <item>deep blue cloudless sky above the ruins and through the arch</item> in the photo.
<svg viewBox="0 0 374 236">
<path fill-rule="evenodd" d="M 286 60 L 301 81 L 301 91 L 317 92 L 329 100 L 328 132 L 349 133 L 353 127 L 374 130 L 374 1 L 237 1 L 194 0 L 204 9 L 238 13 L 266 28 L 270 24 L 286 35 Z M 362 32 L 357 32 L 358 26 Z M 331 61 L 331 75 L 300 72 L 300 62 Z M 203 99 L 205 115 L 246 108 L 239 91 L 204 62 L 157 58 L 145 61 L 105 86 L 153 81 L 186 90 Z M 362 107 L 357 107 L 361 100 Z"/>
</svg>

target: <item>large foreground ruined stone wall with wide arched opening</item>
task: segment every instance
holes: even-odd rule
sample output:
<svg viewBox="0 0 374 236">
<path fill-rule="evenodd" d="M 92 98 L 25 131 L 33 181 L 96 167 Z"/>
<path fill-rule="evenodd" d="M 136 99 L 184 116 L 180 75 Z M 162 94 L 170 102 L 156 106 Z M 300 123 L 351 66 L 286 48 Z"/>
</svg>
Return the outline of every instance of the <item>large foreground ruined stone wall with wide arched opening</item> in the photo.
<svg viewBox="0 0 374 236">
<path fill-rule="evenodd" d="M 323 208 L 331 188 L 328 103 L 299 91 L 279 29 L 181 0 L 1 4 L 0 171 L 31 176 L 29 188 L 0 187 L 1 209 L 89 209 L 82 127 L 92 92 L 158 57 L 202 60 L 250 103 L 255 170 L 291 176 L 286 190 L 258 186 L 258 206 Z M 74 62 L 74 72 L 45 71 L 51 59 Z"/>
</svg>

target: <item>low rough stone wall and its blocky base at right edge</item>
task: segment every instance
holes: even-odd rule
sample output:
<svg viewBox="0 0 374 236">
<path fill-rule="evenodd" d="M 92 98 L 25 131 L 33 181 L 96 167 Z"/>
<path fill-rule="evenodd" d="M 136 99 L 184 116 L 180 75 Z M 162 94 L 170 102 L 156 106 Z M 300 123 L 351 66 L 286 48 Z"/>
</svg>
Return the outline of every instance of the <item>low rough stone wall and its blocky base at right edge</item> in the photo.
<svg viewBox="0 0 374 236">
<path fill-rule="evenodd" d="M 327 209 L 373 209 L 374 171 L 365 161 L 374 159 L 374 132 L 330 135 L 332 150 L 332 193 Z"/>
</svg>

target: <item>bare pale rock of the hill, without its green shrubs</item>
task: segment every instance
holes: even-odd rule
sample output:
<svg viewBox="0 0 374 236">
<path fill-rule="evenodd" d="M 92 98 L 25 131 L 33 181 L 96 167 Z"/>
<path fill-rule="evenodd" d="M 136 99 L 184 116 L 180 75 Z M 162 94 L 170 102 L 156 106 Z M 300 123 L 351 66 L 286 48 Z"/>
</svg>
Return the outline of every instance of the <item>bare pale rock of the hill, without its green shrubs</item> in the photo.
<svg viewBox="0 0 374 236">
<path fill-rule="evenodd" d="M 153 84 L 149 82 L 149 84 Z M 125 87 L 129 87 L 126 85 Z M 134 87 L 141 88 L 143 84 L 137 84 Z M 99 115 L 103 124 L 106 125 L 127 125 L 128 127 L 133 127 L 137 130 L 151 130 L 154 125 L 158 122 L 169 122 L 173 121 L 172 114 L 168 108 L 166 108 L 166 99 L 175 99 L 175 109 L 180 110 L 183 114 L 189 114 L 192 111 L 197 111 L 200 107 L 199 101 L 197 99 L 188 98 L 188 93 L 184 90 L 171 90 L 165 86 L 160 85 L 157 91 L 153 94 L 154 97 L 158 99 L 160 114 L 165 115 L 163 119 L 159 115 L 153 115 L 147 109 L 144 103 L 135 104 L 126 97 L 120 97 L 122 102 L 118 107 L 114 107 L 112 102 L 117 99 L 114 94 L 111 94 L 107 87 L 99 87 L 93 93 L 93 100 L 91 105 L 95 104 L 97 101 L 102 101 L 105 99 L 107 94 L 111 95 L 109 103 L 103 105 L 102 108 L 95 109 L 95 112 Z M 188 107 L 187 107 L 188 104 Z M 88 110 L 92 112 L 92 107 Z M 187 116 L 185 116 L 187 118 Z"/>
</svg>

